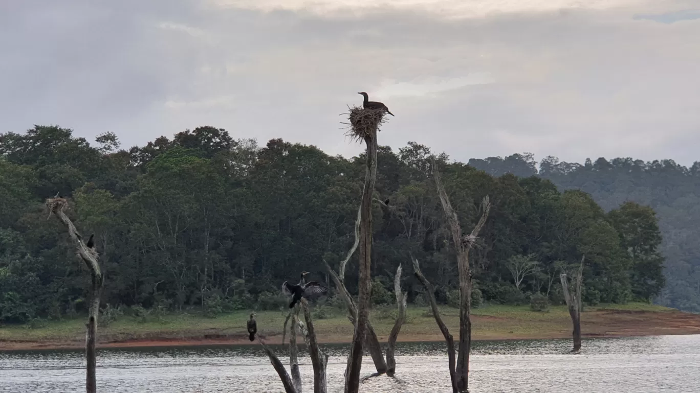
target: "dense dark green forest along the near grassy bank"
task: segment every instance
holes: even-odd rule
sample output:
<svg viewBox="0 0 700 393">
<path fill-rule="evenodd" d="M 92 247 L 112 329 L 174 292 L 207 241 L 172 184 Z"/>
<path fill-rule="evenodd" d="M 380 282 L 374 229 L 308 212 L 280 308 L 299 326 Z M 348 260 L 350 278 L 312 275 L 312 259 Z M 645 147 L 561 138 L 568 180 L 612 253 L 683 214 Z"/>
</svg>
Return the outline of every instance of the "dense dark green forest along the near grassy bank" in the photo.
<svg viewBox="0 0 700 393">
<path fill-rule="evenodd" d="M 120 150 L 110 133 L 96 141 L 55 126 L 0 134 L 0 322 L 87 308 L 85 266 L 43 206 L 57 192 L 69 199 L 83 234 L 95 234 L 104 307 L 276 307 L 283 281 L 309 271 L 309 278 L 329 283 L 323 259 L 337 266 L 353 243 L 361 156 L 331 157 L 281 139 L 260 148 L 214 127 L 129 150 Z M 410 264 L 409 252 L 421 260 L 438 299 L 454 301 L 456 259 L 431 155 L 416 143 L 398 152 L 379 148 L 375 303 L 391 301 L 393 272 Z M 472 227 L 482 198 L 491 199 L 471 257 L 475 299 L 525 303 L 542 294 L 560 303 L 559 274 L 582 255 L 586 303 L 650 301 L 664 288 L 652 208 L 621 199 L 605 213 L 586 192 L 560 192 L 538 176 L 519 178 L 511 170 L 494 177 L 478 163 L 449 163 L 444 154 L 437 162 L 463 225 Z M 407 276 L 409 301 L 423 301 L 421 285 Z M 351 259 L 351 292 L 356 281 Z"/>
</svg>

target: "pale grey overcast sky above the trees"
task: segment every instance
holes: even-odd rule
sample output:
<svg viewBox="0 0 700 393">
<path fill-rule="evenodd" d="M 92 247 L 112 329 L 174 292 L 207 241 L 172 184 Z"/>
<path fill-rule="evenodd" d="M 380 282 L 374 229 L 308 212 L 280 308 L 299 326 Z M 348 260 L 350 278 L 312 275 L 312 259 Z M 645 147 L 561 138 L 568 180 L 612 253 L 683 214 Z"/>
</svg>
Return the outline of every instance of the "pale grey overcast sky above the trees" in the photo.
<svg viewBox="0 0 700 393">
<path fill-rule="evenodd" d="M 466 161 L 533 152 L 700 160 L 700 0 L 0 1 L 0 131 L 143 145 L 200 125 Z"/>
</svg>

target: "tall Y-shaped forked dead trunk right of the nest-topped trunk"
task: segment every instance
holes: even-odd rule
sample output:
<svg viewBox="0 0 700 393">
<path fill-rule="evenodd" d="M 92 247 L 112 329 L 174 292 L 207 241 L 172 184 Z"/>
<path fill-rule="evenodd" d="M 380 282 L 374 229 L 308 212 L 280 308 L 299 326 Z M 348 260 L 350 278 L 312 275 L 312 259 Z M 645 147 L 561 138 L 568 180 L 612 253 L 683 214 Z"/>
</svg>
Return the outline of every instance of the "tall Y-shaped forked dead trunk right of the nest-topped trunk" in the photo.
<svg viewBox="0 0 700 393">
<path fill-rule="evenodd" d="M 454 248 L 457 251 L 457 269 L 459 271 L 459 350 L 457 352 L 456 366 L 456 381 L 457 390 L 466 392 L 469 385 L 469 352 L 471 350 L 472 341 L 472 321 L 471 321 L 471 303 L 472 303 L 472 279 L 469 269 L 469 250 L 474 245 L 474 241 L 486 223 L 486 217 L 489 215 L 491 204 L 489 197 L 484 197 L 482 201 L 482 217 L 472 230 L 471 234 L 464 236 L 462 234 L 457 213 L 449 203 L 449 197 L 444 190 L 442 180 L 440 179 L 440 171 L 437 170 L 437 164 L 433 159 L 433 177 L 435 178 L 435 186 L 437 194 L 440 195 L 440 202 L 444 215 L 447 217 L 447 222 L 451 229 L 452 241 Z"/>
</svg>

